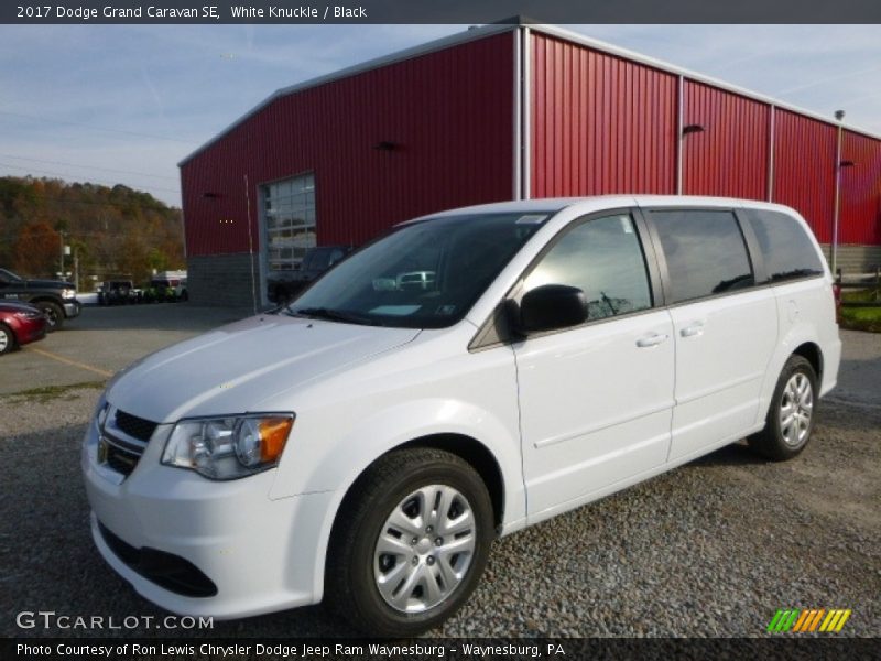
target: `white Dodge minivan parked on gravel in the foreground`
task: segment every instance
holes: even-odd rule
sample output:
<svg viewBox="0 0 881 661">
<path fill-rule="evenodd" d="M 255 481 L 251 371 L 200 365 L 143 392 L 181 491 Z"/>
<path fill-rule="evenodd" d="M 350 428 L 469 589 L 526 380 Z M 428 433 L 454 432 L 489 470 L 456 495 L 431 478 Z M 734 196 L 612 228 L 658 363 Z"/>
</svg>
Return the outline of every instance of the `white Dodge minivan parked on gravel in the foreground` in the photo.
<svg viewBox="0 0 881 661">
<path fill-rule="evenodd" d="M 440 213 L 117 375 L 83 447 L 93 535 L 175 613 L 325 599 L 414 635 L 468 598 L 497 537 L 744 437 L 797 455 L 840 349 L 791 208 Z"/>
</svg>

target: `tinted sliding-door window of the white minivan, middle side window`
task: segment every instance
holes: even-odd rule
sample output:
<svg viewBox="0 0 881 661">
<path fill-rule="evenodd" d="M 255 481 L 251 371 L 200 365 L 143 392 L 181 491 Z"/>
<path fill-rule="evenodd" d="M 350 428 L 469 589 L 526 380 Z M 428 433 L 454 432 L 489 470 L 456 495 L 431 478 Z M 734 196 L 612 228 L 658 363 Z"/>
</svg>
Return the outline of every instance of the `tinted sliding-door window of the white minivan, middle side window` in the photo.
<svg viewBox="0 0 881 661">
<path fill-rule="evenodd" d="M 670 274 L 668 303 L 755 284 L 740 226 L 731 212 L 652 212 Z"/>
</svg>

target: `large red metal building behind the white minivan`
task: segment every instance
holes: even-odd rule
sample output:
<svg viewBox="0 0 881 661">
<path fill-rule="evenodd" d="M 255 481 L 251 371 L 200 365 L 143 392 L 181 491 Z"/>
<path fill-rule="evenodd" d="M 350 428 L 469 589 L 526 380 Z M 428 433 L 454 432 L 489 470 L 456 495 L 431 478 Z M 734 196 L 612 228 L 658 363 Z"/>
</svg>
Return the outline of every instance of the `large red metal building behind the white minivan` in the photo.
<svg viewBox="0 0 881 661">
<path fill-rule="evenodd" d="M 280 89 L 181 176 L 202 303 L 265 302 L 316 242 L 561 195 L 780 202 L 823 243 L 837 206 L 836 266 L 881 263 L 881 139 L 548 25 L 471 29 Z"/>
</svg>

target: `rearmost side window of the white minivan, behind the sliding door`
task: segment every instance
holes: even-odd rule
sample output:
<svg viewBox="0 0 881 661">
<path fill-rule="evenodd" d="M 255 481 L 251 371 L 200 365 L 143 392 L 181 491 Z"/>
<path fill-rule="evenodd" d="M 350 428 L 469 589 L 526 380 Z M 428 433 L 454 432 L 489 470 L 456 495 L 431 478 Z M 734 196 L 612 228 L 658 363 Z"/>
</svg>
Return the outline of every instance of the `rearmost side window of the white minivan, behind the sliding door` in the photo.
<svg viewBox="0 0 881 661">
<path fill-rule="evenodd" d="M 768 282 L 823 275 L 823 262 L 804 227 L 788 214 L 748 209 Z"/>
</svg>

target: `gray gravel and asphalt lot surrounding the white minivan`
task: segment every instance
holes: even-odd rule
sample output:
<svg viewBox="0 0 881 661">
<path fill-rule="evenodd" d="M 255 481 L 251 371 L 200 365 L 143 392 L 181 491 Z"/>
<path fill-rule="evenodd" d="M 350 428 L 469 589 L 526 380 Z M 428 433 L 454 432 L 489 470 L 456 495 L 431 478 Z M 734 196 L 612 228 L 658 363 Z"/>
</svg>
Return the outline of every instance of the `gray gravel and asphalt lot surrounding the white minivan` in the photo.
<svg viewBox="0 0 881 661">
<path fill-rule="evenodd" d="M 120 337 L 80 332 L 89 329 L 107 347 Z M 180 339 L 166 330 L 168 342 Z M 733 445 L 500 540 L 471 600 L 429 636 L 761 636 L 774 611 L 788 607 L 850 608 L 841 635 L 879 636 L 881 336 L 842 338 L 840 388 L 796 460 L 766 463 Z M 53 353 L 75 339 L 55 334 Z M 98 389 L 9 394 L 8 358 L 0 377 L 0 636 L 352 635 L 319 607 L 216 622 L 205 632 L 19 629 L 22 610 L 120 621 L 165 614 L 93 548 L 78 453 Z M 25 365 L 28 354 L 12 358 Z"/>
</svg>

